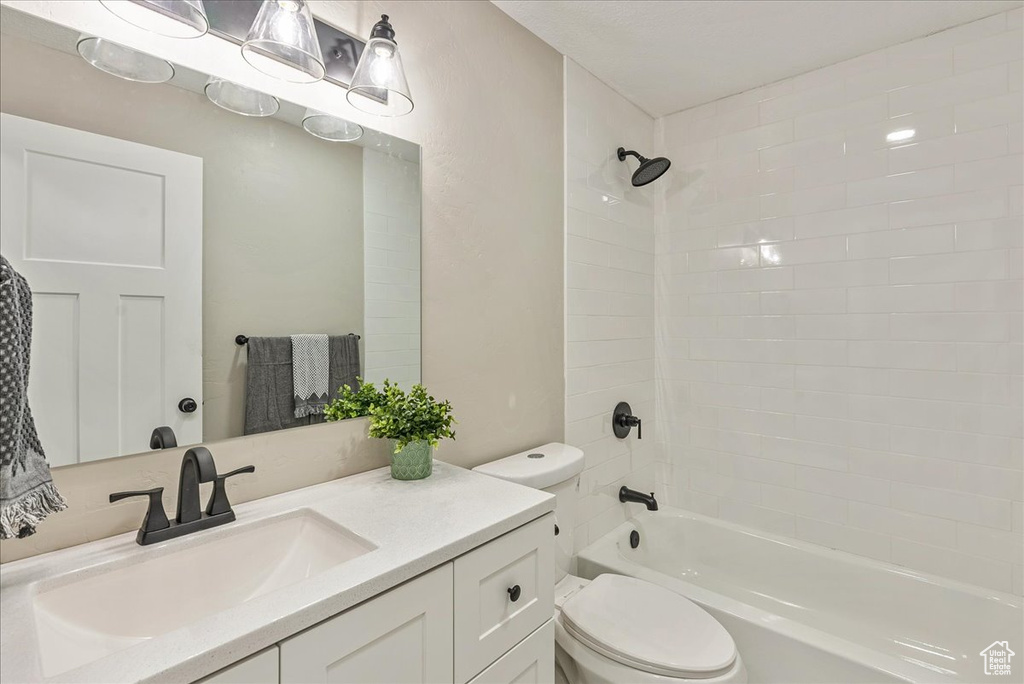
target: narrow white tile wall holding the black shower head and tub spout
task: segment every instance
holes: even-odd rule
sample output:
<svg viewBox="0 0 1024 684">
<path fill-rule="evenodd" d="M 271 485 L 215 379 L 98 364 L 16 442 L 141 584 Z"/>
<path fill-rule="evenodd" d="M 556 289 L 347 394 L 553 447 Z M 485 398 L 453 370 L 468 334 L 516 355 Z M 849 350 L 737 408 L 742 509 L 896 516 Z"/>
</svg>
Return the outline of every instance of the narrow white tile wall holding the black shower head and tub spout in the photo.
<svg viewBox="0 0 1024 684">
<path fill-rule="evenodd" d="M 654 215 L 656 185 L 630 183 L 637 162 L 620 146 L 652 155 L 654 121 L 565 59 L 566 397 L 565 440 L 586 453 L 575 528 L 578 550 L 624 522 L 618 487 L 654 490 Z M 643 439 L 611 432 L 628 401 Z"/>
</svg>

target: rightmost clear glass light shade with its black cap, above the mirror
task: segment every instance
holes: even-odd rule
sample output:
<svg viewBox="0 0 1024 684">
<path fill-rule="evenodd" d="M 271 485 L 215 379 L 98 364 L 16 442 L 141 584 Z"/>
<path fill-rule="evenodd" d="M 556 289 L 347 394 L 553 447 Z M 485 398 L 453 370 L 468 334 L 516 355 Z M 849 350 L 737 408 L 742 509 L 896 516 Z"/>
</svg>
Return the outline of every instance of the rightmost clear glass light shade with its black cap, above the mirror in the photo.
<svg viewBox="0 0 1024 684">
<path fill-rule="evenodd" d="M 381 14 L 370 33 L 346 97 L 355 109 L 382 117 L 400 117 L 413 111 L 413 96 L 387 14 Z"/>
</svg>

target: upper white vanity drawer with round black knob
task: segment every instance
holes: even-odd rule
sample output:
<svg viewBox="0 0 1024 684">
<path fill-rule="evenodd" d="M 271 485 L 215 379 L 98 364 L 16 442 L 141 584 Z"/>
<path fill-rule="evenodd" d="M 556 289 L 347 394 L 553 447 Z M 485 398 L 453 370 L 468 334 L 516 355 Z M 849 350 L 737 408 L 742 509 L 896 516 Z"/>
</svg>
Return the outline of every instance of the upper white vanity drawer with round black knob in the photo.
<svg viewBox="0 0 1024 684">
<path fill-rule="evenodd" d="M 456 558 L 457 682 L 472 679 L 551 618 L 554 558 L 553 514 Z"/>
</svg>

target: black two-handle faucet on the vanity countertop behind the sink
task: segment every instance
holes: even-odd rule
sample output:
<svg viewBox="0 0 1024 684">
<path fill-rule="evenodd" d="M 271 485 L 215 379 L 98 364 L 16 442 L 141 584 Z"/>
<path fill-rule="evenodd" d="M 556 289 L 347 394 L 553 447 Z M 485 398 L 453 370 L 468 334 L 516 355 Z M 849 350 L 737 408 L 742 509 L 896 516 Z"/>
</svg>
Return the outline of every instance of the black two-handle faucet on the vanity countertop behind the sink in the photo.
<svg viewBox="0 0 1024 684">
<path fill-rule="evenodd" d="M 145 546 L 167 540 L 183 537 L 201 529 L 209 529 L 234 520 L 234 511 L 227 500 L 224 480 L 240 473 L 256 472 L 255 466 L 246 466 L 223 475 L 217 474 L 217 466 L 213 455 L 205 446 L 193 446 L 181 459 L 181 473 L 178 477 L 178 513 L 174 521 L 167 519 L 164 512 L 164 487 L 155 487 L 142 491 L 118 491 L 111 495 L 111 503 L 128 497 L 148 497 L 150 507 L 142 518 L 135 542 Z M 206 511 L 200 507 L 199 485 L 203 482 L 213 482 L 213 494 L 206 505 Z"/>
</svg>

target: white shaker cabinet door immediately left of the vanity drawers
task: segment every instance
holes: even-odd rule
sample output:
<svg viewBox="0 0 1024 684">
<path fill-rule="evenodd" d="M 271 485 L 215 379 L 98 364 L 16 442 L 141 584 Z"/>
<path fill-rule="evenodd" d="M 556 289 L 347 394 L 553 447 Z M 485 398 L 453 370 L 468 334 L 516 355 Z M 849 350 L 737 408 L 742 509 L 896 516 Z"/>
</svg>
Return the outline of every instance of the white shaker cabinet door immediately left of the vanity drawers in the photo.
<svg viewBox="0 0 1024 684">
<path fill-rule="evenodd" d="M 451 682 L 452 563 L 281 643 L 282 684 Z"/>
</svg>

